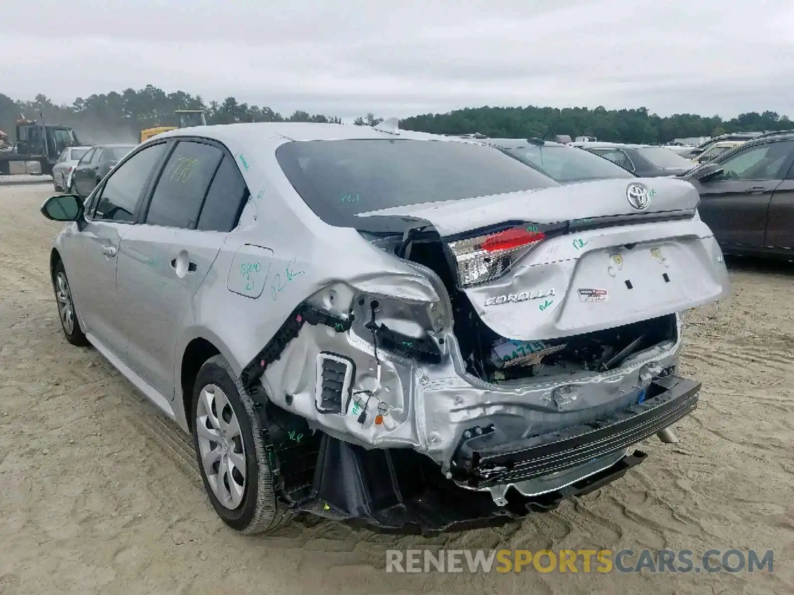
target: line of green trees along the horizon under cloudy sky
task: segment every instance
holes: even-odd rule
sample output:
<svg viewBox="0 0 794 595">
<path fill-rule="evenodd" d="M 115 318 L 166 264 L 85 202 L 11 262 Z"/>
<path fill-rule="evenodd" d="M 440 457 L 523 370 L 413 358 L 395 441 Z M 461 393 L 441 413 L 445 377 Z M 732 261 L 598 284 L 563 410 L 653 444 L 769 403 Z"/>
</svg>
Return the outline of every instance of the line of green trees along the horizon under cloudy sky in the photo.
<svg viewBox="0 0 794 595">
<path fill-rule="evenodd" d="M 20 115 L 29 119 L 44 118 L 48 124 L 72 126 L 81 140 L 105 142 L 133 140 L 142 129 L 175 125 L 175 110 L 203 109 L 208 124 L 233 122 L 329 122 L 341 124 L 341 118 L 320 113 L 295 111 L 289 116 L 265 106 L 239 103 L 233 97 L 222 102 L 206 102 L 200 95 L 184 91 L 166 93 L 147 85 L 143 89 L 125 89 L 118 93 L 93 94 L 76 98 L 71 106 L 56 105 L 44 94 L 33 101 L 15 101 L 0 94 L 0 129 L 13 137 L 14 122 Z M 368 113 L 354 121 L 357 125 L 376 125 L 383 118 Z M 629 143 L 667 143 L 675 138 L 717 136 L 726 132 L 794 129 L 788 116 L 777 112 L 742 113 L 730 120 L 719 116 L 703 117 L 678 113 L 661 117 L 645 107 L 637 109 L 595 109 L 584 107 L 477 107 L 456 109 L 448 113 L 426 113 L 400 121 L 403 129 L 437 134 L 474 134 L 491 137 L 529 138 L 564 134 L 595 136 L 599 140 Z"/>
</svg>

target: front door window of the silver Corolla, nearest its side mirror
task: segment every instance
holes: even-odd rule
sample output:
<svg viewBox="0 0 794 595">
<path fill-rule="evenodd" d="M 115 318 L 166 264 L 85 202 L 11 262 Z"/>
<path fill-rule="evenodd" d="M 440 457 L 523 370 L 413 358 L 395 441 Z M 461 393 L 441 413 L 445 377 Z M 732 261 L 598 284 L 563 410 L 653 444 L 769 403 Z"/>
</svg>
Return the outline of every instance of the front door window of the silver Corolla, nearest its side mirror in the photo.
<svg viewBox="0 0 794 595">
<path fill-rule="evenodd" d="M 154 144 L 116 168 L 100 191 L 94 219 L 135 221 L 135 210 L 149 175 L 165 152 L 165 143 Z"/>
</svg>

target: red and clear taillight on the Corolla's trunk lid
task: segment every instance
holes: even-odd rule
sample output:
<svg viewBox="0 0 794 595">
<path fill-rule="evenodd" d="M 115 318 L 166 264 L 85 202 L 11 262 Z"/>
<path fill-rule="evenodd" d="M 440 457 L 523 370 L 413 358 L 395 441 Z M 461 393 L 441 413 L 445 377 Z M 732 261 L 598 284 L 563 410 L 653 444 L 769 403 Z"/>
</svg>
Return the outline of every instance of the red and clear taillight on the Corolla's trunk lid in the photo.
<svg viewBox="0 0 794 595">
<path fill-rule="evenodd" d="M 458 286 L 462 289 L 501 277 L 545 238 L 545 232 L 530 225 L 449 242 L 457 262 Z"/>
</svg>

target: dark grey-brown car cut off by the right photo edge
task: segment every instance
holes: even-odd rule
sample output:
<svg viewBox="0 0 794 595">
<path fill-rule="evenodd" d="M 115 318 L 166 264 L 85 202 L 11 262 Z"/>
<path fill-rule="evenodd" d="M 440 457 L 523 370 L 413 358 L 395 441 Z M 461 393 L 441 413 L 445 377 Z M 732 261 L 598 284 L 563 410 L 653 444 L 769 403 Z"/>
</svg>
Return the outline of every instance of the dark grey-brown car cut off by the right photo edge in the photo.
<svg viewBox="0 0 794 595">
<path fill-rule="evenodd" d="M 684 179 L 723 251 L 794 258 L 794 133 L 748 140 Z"/>
</svg>

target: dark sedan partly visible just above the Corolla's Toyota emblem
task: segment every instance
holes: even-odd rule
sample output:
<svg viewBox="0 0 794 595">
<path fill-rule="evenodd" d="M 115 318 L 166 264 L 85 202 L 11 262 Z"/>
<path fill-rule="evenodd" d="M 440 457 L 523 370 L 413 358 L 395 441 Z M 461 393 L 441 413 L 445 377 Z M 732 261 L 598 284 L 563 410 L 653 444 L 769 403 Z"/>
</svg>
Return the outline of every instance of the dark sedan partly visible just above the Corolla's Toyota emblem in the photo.
<svg viewBox="0 0 794 595">
<path fill-rule="evenodd" d="M 651 144 L 572 143 L 606 157 L 642 178 L 681 175 L 692 169 L 692 162 L 667 147 Z"/>
</svg>

